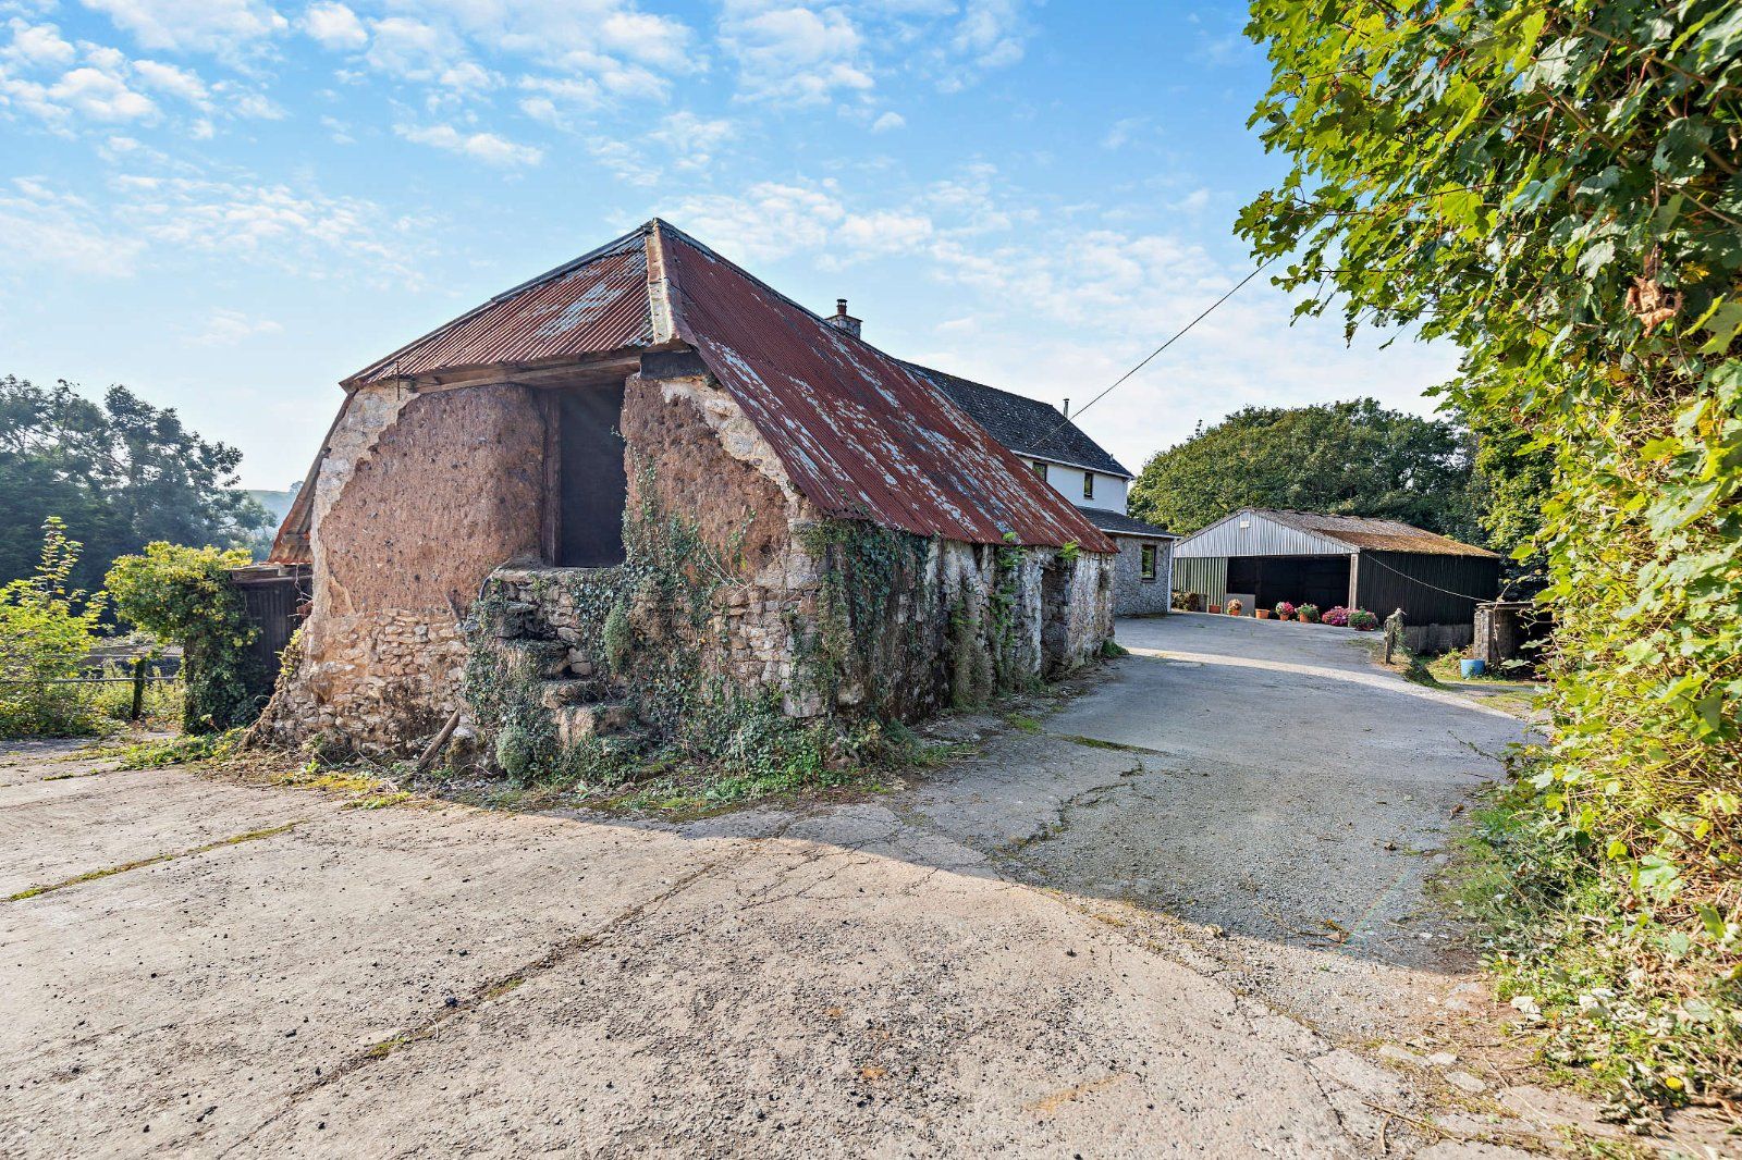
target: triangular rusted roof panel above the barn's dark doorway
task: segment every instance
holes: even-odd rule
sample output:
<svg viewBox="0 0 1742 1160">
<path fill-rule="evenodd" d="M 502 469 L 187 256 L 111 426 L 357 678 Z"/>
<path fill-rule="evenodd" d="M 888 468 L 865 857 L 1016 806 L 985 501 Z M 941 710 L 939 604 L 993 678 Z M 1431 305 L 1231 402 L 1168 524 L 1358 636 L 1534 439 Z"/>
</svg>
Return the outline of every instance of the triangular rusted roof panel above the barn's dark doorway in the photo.
<svg viewBox="0 0 1742 1160">
<path fill-rule="evenodd" d="M 643 230 L 557 266 L 345 380 L 599 354 L 652 341 Z"/>
</svg>

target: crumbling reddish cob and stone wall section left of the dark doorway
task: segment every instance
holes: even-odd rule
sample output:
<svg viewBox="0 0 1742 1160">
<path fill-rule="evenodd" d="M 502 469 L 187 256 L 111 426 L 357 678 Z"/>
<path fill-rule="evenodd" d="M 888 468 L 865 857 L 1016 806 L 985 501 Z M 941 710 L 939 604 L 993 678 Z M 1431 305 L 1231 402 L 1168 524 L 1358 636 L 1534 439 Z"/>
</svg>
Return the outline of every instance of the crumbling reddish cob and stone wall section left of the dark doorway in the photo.
<svg viewBox="0 0 1742 1160">
<path fill-rule="evenodd" d="M 315 479 L 314 608 L 263 735 L 368 749 L 434 732 L 458 705 L 467 606 L 538 552 L 542 458 L 524 387 L 357 390 Z"/>
</svg>

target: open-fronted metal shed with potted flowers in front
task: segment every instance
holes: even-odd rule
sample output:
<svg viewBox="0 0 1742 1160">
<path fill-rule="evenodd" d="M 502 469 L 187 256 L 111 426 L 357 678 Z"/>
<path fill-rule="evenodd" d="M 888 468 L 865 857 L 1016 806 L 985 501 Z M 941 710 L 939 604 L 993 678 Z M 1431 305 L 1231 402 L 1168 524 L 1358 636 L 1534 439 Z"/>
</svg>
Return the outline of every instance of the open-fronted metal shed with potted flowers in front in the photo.
<svg viewBox="0 0 1742 1160">
<path fill-rule="evenodd" d="M 1467 644 L 1500 590 L 1500 557 L 1395 519 L 1242 507 L 1174 545 L 1174 587 L 1247 608 L 1279 601 L 1404 610 L 1434 646 Z M 1462 636 L 1462 639 L 1458 639 Z"/>
</svg>

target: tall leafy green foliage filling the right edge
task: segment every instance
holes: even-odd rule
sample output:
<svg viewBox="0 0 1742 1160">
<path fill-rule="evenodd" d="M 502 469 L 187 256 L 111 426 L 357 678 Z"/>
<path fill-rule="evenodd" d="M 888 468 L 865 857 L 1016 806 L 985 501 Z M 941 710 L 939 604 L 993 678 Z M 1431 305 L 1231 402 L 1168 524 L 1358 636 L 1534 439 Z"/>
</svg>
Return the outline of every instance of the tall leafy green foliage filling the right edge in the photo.
<svg viewBox="0 0 1742 1160">
<path fill-rule="evenodd" d="M 1590 995 L 1650 1010 L 1650 948 L 1686 942 L 1676 989 L 1718 995 L 1742 916 L 1742 9 L 1256 0 L 1249 33 L 1273 66 L 1254 122 L 1294 160 L 1242 214 L 1258 254 L 1293 254 L 1306 314 L 1458 343 L 1469 425 L 1554 456 L 1554 744 L 1519 810 L 1564 859 L 1556 897 L 1596 909 L 1531 961 L 1582 979 L 1606 948 Z M 1639 1035 L 1650 1061 L 1693 1031 Z M 1716 1059 L 1683 1094 L 1742 1092 Z"/>
</svg>

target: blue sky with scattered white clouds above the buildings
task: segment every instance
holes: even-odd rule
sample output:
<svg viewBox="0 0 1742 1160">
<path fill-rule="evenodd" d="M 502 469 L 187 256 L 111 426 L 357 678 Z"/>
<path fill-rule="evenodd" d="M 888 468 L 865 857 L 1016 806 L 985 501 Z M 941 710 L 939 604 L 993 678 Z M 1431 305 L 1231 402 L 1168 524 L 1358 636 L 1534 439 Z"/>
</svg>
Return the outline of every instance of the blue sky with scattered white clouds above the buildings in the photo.
<svg viewBox="0 0 1742 1160">
<path fill-rule="evenodd" d="M 892 354 L 1082 404 L 1251 266 L 1221 3 L 0 0 L 0 373 L 298 479 L 336 381 L 662 216 Z M 1249 402 L 1428 411 L 1453 352 L 1252 282 L 1089 411 L 1132 470 Z"/>
</svg>

